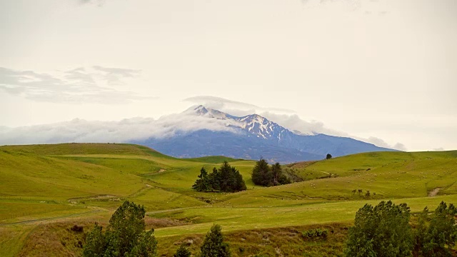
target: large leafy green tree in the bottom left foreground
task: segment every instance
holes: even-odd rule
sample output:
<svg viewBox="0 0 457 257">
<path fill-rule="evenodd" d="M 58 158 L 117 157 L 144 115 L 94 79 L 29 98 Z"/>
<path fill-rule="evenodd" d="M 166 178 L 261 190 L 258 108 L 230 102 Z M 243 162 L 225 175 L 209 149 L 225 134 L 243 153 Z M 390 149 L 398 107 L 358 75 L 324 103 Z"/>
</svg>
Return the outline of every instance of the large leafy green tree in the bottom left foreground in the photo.
<svg viewBox="0 0 457 257">
<path fill-rule="evenodd" d="M 103 233 L 97 223 L 86 238 L 84 256 L 156 256 L 154 229 L 145 231 L 144 206 L 125 201 Z"/>
</svg>

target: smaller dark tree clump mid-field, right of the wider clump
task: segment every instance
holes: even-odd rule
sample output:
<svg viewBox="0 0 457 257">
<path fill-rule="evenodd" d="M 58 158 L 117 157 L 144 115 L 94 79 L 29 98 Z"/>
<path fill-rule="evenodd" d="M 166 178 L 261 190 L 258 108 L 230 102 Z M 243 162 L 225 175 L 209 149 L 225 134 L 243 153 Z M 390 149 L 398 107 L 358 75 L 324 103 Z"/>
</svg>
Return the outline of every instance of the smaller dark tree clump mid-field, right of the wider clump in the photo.
<svg viewBox="0 0 457 257">
<path fill-rule="evenodd" d="M 259 186 L 278 186 L 291 183 L 291 180 L 283 174 L 279 163 L 269 166 L 263 158 L 256 162 L 256 166 L 252 170 L 252 181 Z"/>
</svg>

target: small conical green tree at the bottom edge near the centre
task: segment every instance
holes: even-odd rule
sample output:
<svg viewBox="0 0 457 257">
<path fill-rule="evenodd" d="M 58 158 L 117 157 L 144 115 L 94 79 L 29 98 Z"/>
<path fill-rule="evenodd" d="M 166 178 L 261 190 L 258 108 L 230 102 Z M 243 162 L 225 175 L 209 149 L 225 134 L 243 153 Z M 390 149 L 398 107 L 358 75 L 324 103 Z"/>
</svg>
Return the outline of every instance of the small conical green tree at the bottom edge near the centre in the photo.
<svg viewBox="0 0 457 257">
<path fill-rule="evenodd" d="M 201 246 L 201 257 L 229 257 L 231 256 L 229 244 L 224 243 L 221 226 L 213 225 L 206 233 Z"/>
</svg>

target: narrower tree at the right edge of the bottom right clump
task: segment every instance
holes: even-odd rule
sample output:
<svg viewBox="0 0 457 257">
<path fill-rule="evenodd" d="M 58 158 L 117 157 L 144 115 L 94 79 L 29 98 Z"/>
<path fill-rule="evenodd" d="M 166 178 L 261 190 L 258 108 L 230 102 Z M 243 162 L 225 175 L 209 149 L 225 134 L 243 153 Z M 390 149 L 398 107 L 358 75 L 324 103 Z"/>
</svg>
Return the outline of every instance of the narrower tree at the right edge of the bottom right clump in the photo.
<svg viewBox="0 0 457 257">
<path fill-rule="evenodd" d="M 414 236 L 414 255 L 452 256 L 449 249 L 457 241 L 456 215 L 457 208 L 443 201 L 432 216 L 428 215 L 428 208 L 424 208 Z"/>
</svg>

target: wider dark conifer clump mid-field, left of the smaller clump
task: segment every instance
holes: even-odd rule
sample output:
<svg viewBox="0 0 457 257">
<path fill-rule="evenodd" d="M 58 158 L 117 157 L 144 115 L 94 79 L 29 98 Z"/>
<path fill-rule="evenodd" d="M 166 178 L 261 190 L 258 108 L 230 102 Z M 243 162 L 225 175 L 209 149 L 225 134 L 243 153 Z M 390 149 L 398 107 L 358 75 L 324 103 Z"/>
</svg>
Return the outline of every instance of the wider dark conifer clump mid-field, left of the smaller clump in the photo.
<svg viewBox="0 0 457 257">
<path fill-rule="evenodd" d="M 231 167 L 227 161 L 224 161 L 219 169 L 215 167 L 211 173 L 206 172 L 205 168 L 202 167 L 199 178 L 192 188 L 199 192 L 238 192 L 246 190 L 246 183 L 244 183 L 240 172 L 235 167 Z"/>
</svg>

